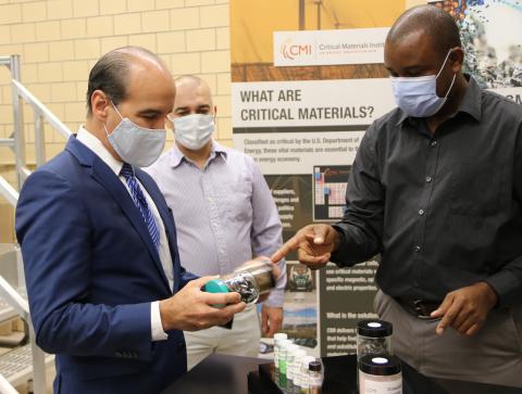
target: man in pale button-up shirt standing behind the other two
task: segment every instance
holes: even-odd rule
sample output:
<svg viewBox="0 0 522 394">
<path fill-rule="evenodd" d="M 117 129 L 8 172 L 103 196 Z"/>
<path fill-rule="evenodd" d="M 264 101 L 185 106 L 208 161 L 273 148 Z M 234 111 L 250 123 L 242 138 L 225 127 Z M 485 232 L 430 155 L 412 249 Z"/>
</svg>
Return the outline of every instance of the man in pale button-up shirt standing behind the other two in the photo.
<svg viewBox="0 0 522 394">
<path fill-rule="evenodd" d="M 224 275 L 282 244 L 282 224 L 271 191 L 253 160 L 212 139 L 216 107 L 209 86 L 196 76 L 175 80 L 175 145 L 146 170 L 173 209 L 179 256 L 196 275 Z M 268 336 L 283 321 L 285 262 L 276 289 L 263 302 Z M 186 333 L 188 369 L 211 353 L 256 357 L 260 328 L 254 306 L 236 315 L 232 330 L 215 327 Z"/>
</svg>

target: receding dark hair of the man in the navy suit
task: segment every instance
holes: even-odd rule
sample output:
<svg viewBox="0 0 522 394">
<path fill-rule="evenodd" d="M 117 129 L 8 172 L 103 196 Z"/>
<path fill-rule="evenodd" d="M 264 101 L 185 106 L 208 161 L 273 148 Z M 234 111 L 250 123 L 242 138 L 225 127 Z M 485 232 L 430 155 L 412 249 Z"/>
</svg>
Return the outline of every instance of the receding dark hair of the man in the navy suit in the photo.
<svg viewBox="0 0 522 394">
<path fill-rule="evenodd" d="M 87 113 L 92 114 L 90 98 L 95 90 L 102 90 L 114 105 L 125 100 L 127 94 L 129 64 L 133 60 L 148 58 L 163 65 L 151 51 L 141 47 L 122 47 L 101 56 L 89 73 L 87 86 Z"/>
</svg>

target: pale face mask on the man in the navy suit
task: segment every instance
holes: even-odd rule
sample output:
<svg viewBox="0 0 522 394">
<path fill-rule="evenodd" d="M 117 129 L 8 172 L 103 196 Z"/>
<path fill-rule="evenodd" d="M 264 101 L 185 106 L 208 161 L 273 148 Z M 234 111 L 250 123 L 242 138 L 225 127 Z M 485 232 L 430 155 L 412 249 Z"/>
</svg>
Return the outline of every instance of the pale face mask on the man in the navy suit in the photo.
<svg viewBox="0 0 522 394">
<path fill-rule="evenodd" d="M 112 104 L 112 102 L 111 102 Z M 116 106 L 112 104 L 122 122 L 109 134 L 105 128 L 109 143 L 125 163 L 138 167 L 148 167 L 160 157 L 165 147 L 163 129 L 150 129 L 136 125 L 127 117 L 123 117 Z"/>
</svg>

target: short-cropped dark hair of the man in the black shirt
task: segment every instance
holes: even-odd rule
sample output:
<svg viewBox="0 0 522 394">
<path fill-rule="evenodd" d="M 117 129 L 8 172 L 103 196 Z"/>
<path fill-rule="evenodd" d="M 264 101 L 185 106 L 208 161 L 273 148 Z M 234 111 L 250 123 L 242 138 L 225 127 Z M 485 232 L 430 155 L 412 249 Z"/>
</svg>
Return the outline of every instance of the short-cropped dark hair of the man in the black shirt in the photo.
<svg viewBox="0 0 522 394">
<path fill-rule="evenodd" d="M 388 31 L 387 41 L 400 41 L 413 31 L 423 31 L 434 46 L 434 51 L 445 56 L 450 48 L 461 47 L 459 27 L 452 16 L 435 5 L 419 5 L 407 10 Z"/>
</svg>

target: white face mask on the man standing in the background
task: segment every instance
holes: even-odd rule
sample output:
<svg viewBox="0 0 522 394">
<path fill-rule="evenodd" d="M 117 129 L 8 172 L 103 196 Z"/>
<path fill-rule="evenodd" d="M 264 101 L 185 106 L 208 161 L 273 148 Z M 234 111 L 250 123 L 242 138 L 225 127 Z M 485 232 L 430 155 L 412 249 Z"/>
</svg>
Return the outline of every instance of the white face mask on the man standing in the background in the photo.
<svg viewBox="0 0 522 394">
<path fill-rule="evenodd" d="M 212 115 L 192 114 L 171 118 L 174 123 L 174 138 L 185 148 L 197 151 L 203 148 L 214 132 Z"/>
</svg>

